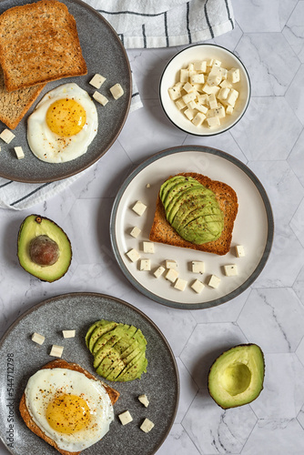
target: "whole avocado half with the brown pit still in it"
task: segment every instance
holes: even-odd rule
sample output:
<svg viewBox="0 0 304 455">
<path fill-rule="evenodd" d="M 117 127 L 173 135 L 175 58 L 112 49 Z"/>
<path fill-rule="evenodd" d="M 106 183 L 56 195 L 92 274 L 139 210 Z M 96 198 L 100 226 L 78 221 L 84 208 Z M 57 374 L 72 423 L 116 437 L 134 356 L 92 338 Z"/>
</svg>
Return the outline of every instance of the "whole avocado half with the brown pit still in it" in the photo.
<svg viewBox="0 0 304 455">
<path fill-rule="evenodd" d="M 49 261 L 48 256 L 44 255 L 39 264 L 35 260 L 37 256 L 43 257 L 45 246 L 48 249 L 51 246 L 55 255 Z M 72 260 L 72 248 L 66 233 L 54 221 L 40 215 L 29 215 L 19 228 L 17 256 L 26 272 L 51 283 L 66 274 Z"/>
</svg>

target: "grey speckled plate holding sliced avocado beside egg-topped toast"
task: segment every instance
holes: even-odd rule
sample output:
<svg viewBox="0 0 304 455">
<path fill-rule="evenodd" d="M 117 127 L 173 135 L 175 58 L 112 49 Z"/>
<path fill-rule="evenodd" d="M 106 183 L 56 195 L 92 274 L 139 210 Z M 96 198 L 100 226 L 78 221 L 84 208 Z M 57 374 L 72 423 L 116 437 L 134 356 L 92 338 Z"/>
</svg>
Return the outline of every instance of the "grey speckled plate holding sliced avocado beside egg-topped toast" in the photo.
<svg viewBox="0 0 304 455">
<path fill-rule="evenodd" d="M 63 359 L 95 374 L 85 335 L 97 319 L 113 319 L 141 329 L 147 339 L 148 366 L 142 379 L 108 382 L 121 394 L 115 405 L 115 420 L 103 440 L 86 449 L 86 454 L 151 455 L 166 439 L 179 397 L 177 364 L 167 340 L 146 315 L 128 303 L 101 294 L 75 293 L 50 298 L 31 308 L 15 321 L 0 342 L 0 438 L 11 453 L 58 453 L 27 429 L 18 403 L 27 379 L 54 359 L 48 355 L 52 344 L 64 346 Z M 76 338 L 63 339 L 63 329 L 76 329 Z M 46 337 L 42 346 L 31 340 L 33 332 Z M 147 409 L 137 399 L 143 393 L 150 401 Z M 130 411 L 133 421 L 123 427 L 117 415 L 124 410 Z M 147 434 L 139 430 L 146 417 L 155 423 Z"/>
</svg>

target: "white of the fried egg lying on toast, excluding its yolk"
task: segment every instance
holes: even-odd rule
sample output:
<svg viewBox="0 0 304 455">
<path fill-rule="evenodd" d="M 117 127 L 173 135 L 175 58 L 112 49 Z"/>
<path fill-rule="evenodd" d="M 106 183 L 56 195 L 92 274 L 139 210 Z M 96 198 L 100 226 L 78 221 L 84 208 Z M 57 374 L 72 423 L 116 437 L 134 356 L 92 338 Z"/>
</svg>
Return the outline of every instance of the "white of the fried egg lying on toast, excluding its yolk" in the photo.
<svg viewBox="0 0 304 455">
<path fill-rule="evenodd" d="M 49 425 L 46 409 L 58 392 L 81 396 L 86 400 L 91 420 L 85 429 L 66 434 Z M 27 382 L 25 403 L 40 430 L 55 440 L 59 449 L 71 452 L 84 450 L 101 440 L 114 419 L 113 406 L 102 383 L 88 379 L 73 369 L 39 369 Z"/>
</svg>

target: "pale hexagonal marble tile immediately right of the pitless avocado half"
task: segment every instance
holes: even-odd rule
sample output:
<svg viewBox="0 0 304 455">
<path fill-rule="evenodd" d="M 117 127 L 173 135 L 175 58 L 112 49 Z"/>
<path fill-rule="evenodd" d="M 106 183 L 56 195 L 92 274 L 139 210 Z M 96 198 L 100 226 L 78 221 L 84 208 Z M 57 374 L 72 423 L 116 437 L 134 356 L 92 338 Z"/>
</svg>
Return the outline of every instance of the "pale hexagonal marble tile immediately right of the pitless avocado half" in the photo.
<svg viewBox="0 0 304 455">
<path fill-rule="evenodd" d="M 265 354 L 264 389 L 250 403 L 258 419 L 296 418 L 304 403 L 303 376 L 296 354 Z"/>
</svg>

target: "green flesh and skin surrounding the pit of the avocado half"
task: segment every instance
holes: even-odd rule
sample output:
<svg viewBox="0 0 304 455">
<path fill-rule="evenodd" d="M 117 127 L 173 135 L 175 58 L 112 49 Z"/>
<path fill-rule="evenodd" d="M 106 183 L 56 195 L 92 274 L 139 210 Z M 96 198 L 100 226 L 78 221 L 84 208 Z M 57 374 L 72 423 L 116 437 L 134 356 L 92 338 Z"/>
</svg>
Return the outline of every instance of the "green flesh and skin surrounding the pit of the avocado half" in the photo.
<svg viewBox="0 0 304 455">
<path fill-rule="evenodd" d="M 30 242 L 38 236 L 47 236 L 56 241 L 60 256 L 51 266 L 39 266 L 32 261 L 29 255 Z M 19 264 L 26 272 L 41 281 L 52 283 L 66 275 L 72 261 L 72 247 L 66 232 L 55 221 L 41 215 L 25 217 L 19 227 L 17 238 L 17 257 Z"/>
</svg>

